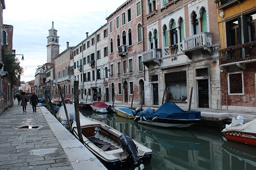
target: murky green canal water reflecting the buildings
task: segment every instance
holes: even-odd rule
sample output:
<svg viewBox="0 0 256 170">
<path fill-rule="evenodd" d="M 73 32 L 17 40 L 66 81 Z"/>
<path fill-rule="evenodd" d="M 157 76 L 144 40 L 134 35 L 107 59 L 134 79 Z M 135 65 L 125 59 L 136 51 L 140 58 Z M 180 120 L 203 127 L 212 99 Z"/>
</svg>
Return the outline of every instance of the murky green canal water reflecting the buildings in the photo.
<svg viewBox="0 0 256 170">
<path fill-rule="evenodd" d="M 98 114 L 80 110 L 89 118 L 100 120 L 154 152 L 145 170 L 255 170 L 256 147 L 226 142 L 217 128 L 159 128 L 138 124 L 116 114 Z M 128 170 L 128 169 L 125 169 Z"/>
</svg>

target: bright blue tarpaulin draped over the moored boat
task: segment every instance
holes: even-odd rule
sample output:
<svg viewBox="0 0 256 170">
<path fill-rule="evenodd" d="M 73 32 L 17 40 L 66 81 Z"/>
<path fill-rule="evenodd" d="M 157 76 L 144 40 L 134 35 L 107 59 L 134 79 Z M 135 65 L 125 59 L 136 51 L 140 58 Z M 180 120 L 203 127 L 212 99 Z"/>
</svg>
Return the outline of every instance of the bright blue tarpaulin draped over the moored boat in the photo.
<svg viewBox="0 0 256 170">
<path fill-rule="evenodd" d="M 156 112 L 153 113 L 143 113 L 139 112 L 137 116 L 143 116 L 144 118 L 152 119 L 152 118 L 168 118 L 168 119 L 200 119 L 201 118 L 201 112 L 198 110 L 193 111 L 185 111 L 179 108 L 178 105 L 176 105 L 173 102 L 166 102 L 163 103 L 160 108 Z"/>
</svg>

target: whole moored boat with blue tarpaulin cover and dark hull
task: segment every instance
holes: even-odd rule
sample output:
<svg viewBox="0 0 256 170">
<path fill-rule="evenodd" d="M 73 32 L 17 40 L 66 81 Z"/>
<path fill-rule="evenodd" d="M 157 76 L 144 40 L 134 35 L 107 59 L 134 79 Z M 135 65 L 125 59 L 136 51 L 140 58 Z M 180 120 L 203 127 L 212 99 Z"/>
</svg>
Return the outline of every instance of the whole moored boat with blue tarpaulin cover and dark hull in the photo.
<svg viewBox="0 0 256 170">
<path fill-rule="evenodd" d="M 156 112 L 151 108 L 138 112 L 134 120 L 142 124 L 166 128 L 186 128 L 201 120 L 201 112 L 198 110 L 185 111 L 173 102 L 166 102 Z"/>
</svg>

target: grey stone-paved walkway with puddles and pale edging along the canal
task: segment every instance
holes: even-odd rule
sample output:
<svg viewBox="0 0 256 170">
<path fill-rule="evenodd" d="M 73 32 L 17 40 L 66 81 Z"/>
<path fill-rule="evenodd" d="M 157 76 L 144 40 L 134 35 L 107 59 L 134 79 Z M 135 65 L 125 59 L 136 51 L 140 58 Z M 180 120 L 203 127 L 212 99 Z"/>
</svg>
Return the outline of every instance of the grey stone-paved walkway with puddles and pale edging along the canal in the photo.
<svg viewBox="0 0 256 170">
<path fill-rule="evenodd" d="M 14 101 L 0 115 L 0 169 L 106 169 L 46 108 L 27 112 Z"/>
</svg>

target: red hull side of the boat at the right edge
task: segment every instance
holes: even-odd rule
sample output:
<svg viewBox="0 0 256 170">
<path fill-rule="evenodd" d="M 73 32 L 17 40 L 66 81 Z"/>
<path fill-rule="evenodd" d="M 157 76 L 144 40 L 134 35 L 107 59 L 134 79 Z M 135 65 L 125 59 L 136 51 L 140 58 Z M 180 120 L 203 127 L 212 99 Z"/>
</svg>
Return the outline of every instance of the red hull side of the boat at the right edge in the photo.
<svg viewBox="0 0 256 170">
<path fill-rule="evenodd" d="M 226 140 L 256 146 L 256 134 L 236 131 L 223 132 L 223 134 Z"/>
</svg>

